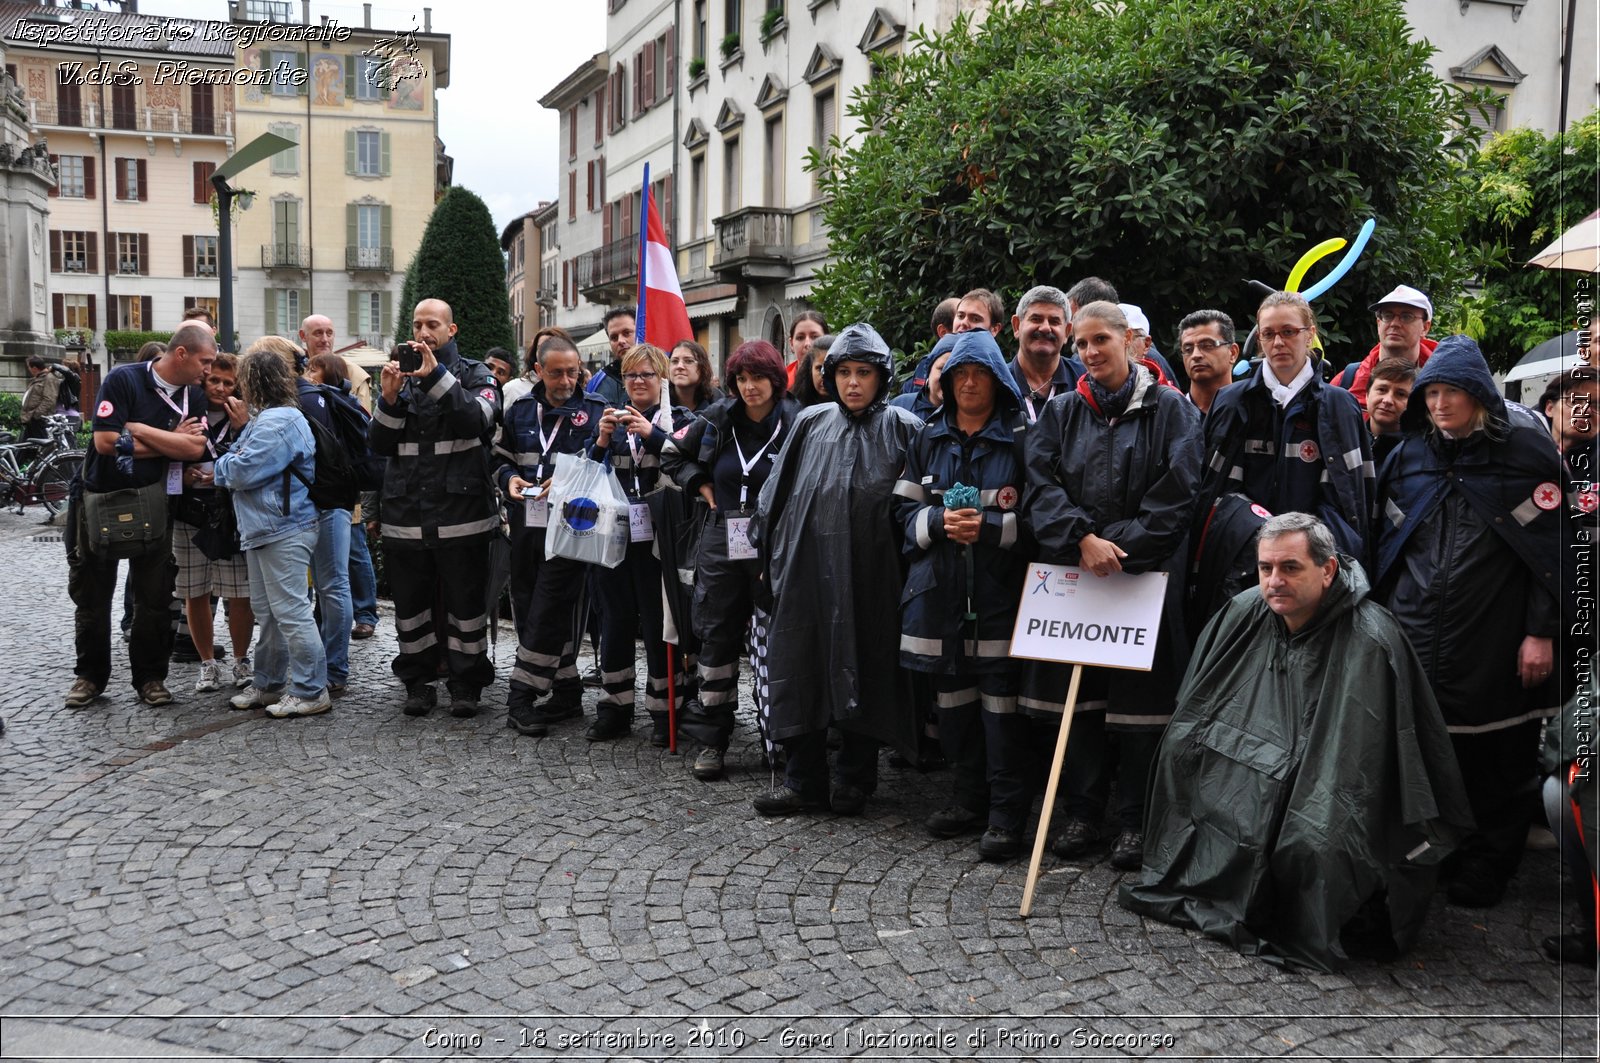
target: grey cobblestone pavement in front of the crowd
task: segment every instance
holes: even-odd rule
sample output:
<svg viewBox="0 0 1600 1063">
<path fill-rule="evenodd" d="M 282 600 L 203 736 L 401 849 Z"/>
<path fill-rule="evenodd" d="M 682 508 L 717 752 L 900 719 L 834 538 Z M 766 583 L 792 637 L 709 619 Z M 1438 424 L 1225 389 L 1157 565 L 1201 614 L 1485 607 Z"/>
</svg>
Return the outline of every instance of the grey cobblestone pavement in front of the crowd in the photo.
<svg viewBox="0 0 1600 1063">
<path fill-rule="evenodd" d="M 710 784 L 643 725 L 406 719 L 384 637 L 315 719 L 229 711 L 192 664 L 142 708 L 125 661 L 66 711 L 38 520 L 0 515 L 6 1057 L 1595 1058 L 1592 972 L 1538 949 L 1549 852 L 1398 962 L 1296 973 L 1125 913 L 1104 860 L 1046 856 L 1019 919 L 1026 863 L 920 829 L 942 775 L 886 767 L 859 820 L 760 820 L 747 719 Z M 506 628 L 502 680 L 514 650 Z"/>
</svg>

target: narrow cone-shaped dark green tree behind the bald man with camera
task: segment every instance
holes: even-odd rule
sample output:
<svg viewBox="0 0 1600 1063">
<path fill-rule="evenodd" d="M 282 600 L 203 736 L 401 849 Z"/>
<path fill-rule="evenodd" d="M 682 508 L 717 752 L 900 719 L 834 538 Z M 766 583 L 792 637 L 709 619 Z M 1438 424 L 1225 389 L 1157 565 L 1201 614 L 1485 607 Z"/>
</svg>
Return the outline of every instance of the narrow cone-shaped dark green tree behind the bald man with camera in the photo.
<svg viewBox="0 0 1600 1063">
<path fill-rule="evenodd" d="M 456 314 L 456 346 L 469 359 L 490 347 L 515 344 L 510 296 L 506 295 L 506 258 L 490 208 L 475 194 L 453 187 L 434 207 L 416 259 L 402 290 L 411 299 L 400 311 L 411 320 L 416 301 L 443 299 Z M 402 328 L 400 335 L 410 330 Z"/>
</svg>

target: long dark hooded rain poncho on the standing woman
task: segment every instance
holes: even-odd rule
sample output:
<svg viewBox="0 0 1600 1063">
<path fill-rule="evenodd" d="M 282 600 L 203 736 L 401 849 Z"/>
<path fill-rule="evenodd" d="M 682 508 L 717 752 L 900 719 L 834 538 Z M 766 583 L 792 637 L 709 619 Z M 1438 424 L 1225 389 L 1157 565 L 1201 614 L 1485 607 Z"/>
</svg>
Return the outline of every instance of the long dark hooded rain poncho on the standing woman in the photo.
<svg viewBox="0 0 1600 1063">
<path fill-rule="evenodd" d="M 851 415 L 838 402 L 800 413 L 762 487 L 752 525 L 773 594 L 766 677 L 774 740 L 830 720 L 907 748 L 912 711 L 899 672 L 901 551 L 894 480 L 922 431 L 888 407 L 890 351 L 869 327 L 838 335 L 824 362 L 882 370 L 875 402 Z"/>
</svg>

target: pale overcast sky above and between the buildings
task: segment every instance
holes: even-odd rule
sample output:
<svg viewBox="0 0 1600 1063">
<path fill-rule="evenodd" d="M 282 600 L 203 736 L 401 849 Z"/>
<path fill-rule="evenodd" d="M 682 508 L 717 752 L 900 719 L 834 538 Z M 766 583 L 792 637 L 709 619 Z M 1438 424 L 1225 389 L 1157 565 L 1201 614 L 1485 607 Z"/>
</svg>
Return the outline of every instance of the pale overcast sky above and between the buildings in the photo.
<svg viewBox="0 0 1600 1063">
<path fill-rule="evenodd" d="M 373 3 L 374 29 L 422 26 L 422 3 Z M 483 197 L 496 229 L 555 199 L 558 115 L 539 106 L 578 64 L 605 48 L 602 0 L 435 2 L 434 32 L 450 34 L 450 88 L 438 93 L 438 136 L 456 160 L 456 184 Z M 299 16 L 299 0 L 294 13 Z M 224 0 L 139 0 L 141 14 L 227 18 Z M 360 3 L 310 5 L 315 24 L 326 14 L 362 26 Z"/>
</svg>

